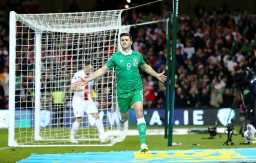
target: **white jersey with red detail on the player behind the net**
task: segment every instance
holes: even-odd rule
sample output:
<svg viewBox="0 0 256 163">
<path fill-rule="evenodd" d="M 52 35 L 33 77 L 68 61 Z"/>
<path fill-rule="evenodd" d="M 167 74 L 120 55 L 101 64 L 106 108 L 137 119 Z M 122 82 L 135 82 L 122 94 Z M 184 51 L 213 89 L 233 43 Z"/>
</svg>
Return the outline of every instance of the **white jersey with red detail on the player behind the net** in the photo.
<svg viewBox="0 0 256 163">
<path fill-rule="evenodd" d="M 78 71 L 78 72 L 76 72 L 74 74 L 74 76 L 73 76 L 73 78 L 71 80 L 71 83 L 74 83 L 75 81 L 80 80 L 80 78 L 78 78 L 78 76 L 83 76 L 84 78 L 88 78 L 91 75 L 92 75 L 92 73 L 90 73 L 89 75 L 85 75 L 84 70 L 80 70 L 80 71 Z M 90 89 L 90 87 L 92 85 L 93 85 L 93 80 L 91 82 L 88 82 L 86 85 L 83 85 L 83 86 L 78 87 L 78 88 L 79 89 Z M 80 92 L 75 91 L 74 92 L 74 96 L 80 96 L 82 98 L 86 98 L 86 97 L 87 98 L 91 98 L 91 94 L 90 93 L 86 94 L 83 91 L 80 91 Z"/>
</svg>

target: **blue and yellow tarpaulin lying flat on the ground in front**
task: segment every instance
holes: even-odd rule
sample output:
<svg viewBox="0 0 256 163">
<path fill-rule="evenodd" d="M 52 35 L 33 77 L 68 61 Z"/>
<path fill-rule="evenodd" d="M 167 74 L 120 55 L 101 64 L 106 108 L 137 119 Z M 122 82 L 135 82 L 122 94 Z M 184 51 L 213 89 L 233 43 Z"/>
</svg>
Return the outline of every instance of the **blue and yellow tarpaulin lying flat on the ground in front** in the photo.
<svg viewBox="0 0 256 163">
<path fill-rule="evenodd" d="M 17 163 L 239 163 L 256 161 L 256 148 L 32 154 Z"/>
</svg>

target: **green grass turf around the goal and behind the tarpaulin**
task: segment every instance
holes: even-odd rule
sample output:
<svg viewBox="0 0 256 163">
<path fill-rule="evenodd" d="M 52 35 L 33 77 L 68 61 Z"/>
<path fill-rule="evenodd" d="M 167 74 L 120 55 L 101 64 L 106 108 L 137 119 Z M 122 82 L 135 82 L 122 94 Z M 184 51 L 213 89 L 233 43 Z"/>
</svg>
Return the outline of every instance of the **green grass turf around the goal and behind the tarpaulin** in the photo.
<svg viewBox="0 0 256 163">
<path fill-rule="evenodd" d="M 238 132 L 240 126 L 235 126 Z M 147 127 L 147 129 L 163 128 L 163 127 Z M 174 128 L 195 128 L 195 126 L 174 126 Z M 208 126 L 200 126 L 200 128 L 208 128 Z M 129 128 L 135 129 L 135 128 Z M 173 135 L 173 142 L 182 143 L 181 146 L 168 146 L 168 139 L 164 135 L 147 135 L 146 141 L 149 150 L 188 150 L 191 148 L 198 149 L 221 149 L 221 148 L 242 148 L 256 147 L 256 144 L 239 145 L 244 142 L 244 138 L 239 135 L 233 135 L 232 140 L 237 145 L 223 145 L 227 140 L 227 134 L 221 134 L 218 139 L 202 139 L 208 138 L 210 135 L 190 134 L 190 135 Z M 8 130 L 0 130 L 0 163 L 15 163 L 35 154 L 64 154 L 78 152 L 109 152 L 109 151 L 139 151 L 140 143 L 138 136 L 127 136 L 126 139 L 113 146 L 82 146 L 82 147 L 8 147 Z M 191 146 L 191 144 L 199 144 L 199 146 Z M 230 142 L 229 142 L 230 144 Z"/>
</svg>

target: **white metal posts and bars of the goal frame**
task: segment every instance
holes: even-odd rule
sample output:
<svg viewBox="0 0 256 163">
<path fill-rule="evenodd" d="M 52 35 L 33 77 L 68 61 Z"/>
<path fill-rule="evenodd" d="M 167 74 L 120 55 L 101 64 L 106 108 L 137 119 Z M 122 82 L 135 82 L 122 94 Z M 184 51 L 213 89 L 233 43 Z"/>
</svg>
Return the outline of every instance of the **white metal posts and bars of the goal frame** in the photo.
<svg viewBox="0 0 256 163">
<path fill-rule="evenodd" d="M 123 31 L 125 31 L 126 29 L 129 29 L 130 26 L 121 26 L 121 13 L 122 10 L 119 10 L 119 18 L 120 24 L 118 26 L 115 26 L 115 28 L 100 28 L 99 31 L 102 30 L 112 30 L 112 29 L 118 29 L 118 38 L 120 33 L 122 33 Z M 100 12 L 100 11 L 98 11 Z M 63 14 L 69 14 L 69 13 L 63 13 Z M 10 80 L 9 80 L 9 128 L 8 128 L 8 146 L 111 146 L 119 141 L 111 141 L 110 144 L 93 144 L 93 145 L 88 145 L 88 144 L 32 144 L 32 145 L 19 145 L 17 143 L 17 141 L 15 140 L 15 59 L 16 59 L 16 34 L 17 34 L 17 26 L 16 26 L 16 22 L 22 18 L 19 17 L 19 14 L 15 13 L 15 11 L 11 11 L 10 12 L 10 31 L 9 31 L 9 56 L 10 58 L 12 58 L 13 60 L 10 61 L 9 63 L 9 74 L 10 75 Z M 29 26 L 29 22 L 23 22 L 26 26 L 28 26 L 29 28 L 32 28 L 35 31 L 35 99 L 34 99 L 34 126 L 33 130 L 34 130 L 34 134 L 33 134 L 33 139 L 35 141 L 40 141 L 42 140 L 41 136 L 40 136 L 40 110 L 41 110 L 41 37 L 42 37 L 42 33 L 40 31 L 42 31 L 42 26 L 39 26 L 39 29 L 37 27 L 32 27 Z M 45 30 L 47 31 L 47 30 Z M 67 32 L 67 31 L 65 31 Z M 82 33 L 83 31 L 81 31 Z M 69 32 L 67 32 L 69 33 Z M 70 32 L 72 33 L 72 31 Z M 119 44 L 117 44 L 117 48 L 118 50 L 121 49 L 121 46 Z M 126 123 L 126 130 L 128 130 L 128 122 Z M 127 132 L 127 131 L 126 131 Z M 126 134 L 126 133 L 124 133 Z M 125 137 L 124 137 L 125 138 Z M 122 138 L 121 138 L 122 139 Z"/>
</svg>

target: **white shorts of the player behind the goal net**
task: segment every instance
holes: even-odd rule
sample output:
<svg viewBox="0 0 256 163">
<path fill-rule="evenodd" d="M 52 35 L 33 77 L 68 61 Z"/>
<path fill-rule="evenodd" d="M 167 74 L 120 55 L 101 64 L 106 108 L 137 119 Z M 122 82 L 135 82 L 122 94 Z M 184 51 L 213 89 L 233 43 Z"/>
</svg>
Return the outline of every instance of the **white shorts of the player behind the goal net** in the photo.
<svg viewBox="0 0 256 163">
<path fill-rule="evenodd" d="M 83 117 L 84 111 L 87 114 L 98 113 L 98 109 L 91 98 L 84 100 L 81 96 L 73 96 L 72 107 L 75 117 Z"/>
</svg>

